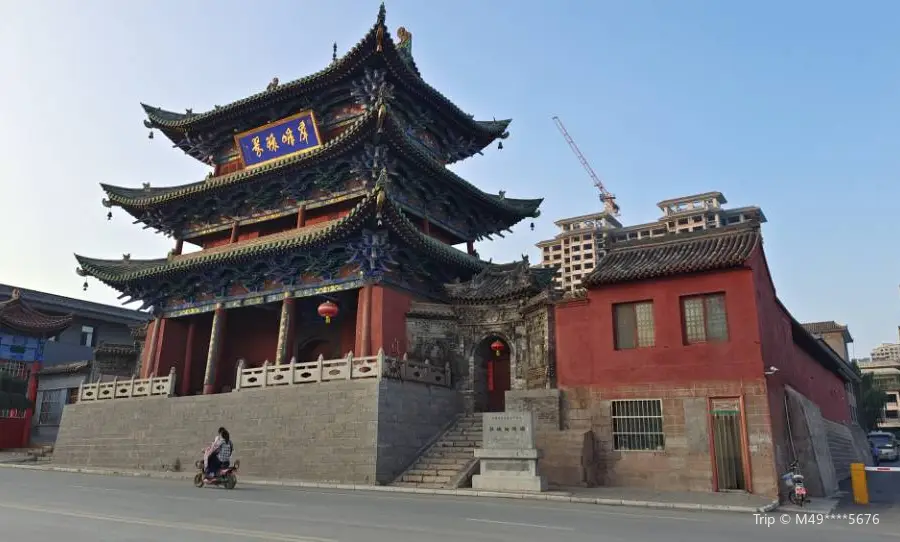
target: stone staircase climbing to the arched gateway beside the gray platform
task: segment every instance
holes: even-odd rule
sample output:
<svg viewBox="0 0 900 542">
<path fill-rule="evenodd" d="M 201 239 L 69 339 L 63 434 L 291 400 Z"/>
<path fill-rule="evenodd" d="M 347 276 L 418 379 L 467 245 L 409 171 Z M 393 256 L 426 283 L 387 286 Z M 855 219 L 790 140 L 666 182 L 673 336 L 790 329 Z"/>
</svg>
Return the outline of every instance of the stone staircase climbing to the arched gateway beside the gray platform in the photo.
<svg viewBox="0 0 900 542">
<path fill-rule="evenodd" d="M 391 485 L 455 488 L 475 461 L 475 448 L 481 447 L 481 423 L 481 414 L 461 417 Z"/>
</svg>

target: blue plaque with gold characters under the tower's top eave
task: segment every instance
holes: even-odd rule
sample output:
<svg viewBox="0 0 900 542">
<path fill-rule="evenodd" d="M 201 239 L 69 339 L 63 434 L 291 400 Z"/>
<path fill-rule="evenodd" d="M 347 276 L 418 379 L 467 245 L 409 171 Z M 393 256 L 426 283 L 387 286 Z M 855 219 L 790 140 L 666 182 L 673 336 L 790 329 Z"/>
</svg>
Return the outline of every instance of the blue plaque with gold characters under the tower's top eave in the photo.
<svg viewBox="0 0 900 542">
<path fill-rule="evenodd" d="M 312 111 L 277 120 L 234 136 L 244 166 L 258 166 L 276 158 L 308 152 L 322 146 Z"/>
</svg>

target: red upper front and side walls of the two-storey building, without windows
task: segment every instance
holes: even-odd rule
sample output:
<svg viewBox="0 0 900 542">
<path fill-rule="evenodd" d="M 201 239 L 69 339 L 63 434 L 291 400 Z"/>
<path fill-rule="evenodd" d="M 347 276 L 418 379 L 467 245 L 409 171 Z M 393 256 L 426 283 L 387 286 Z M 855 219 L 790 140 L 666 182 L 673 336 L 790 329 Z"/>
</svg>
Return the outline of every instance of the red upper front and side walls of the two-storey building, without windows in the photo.
<svg viewBox="0 0 900 542">
<path fill-rule="evenodd" d="M 772 419 L 783 417 L 784 388 L 791 386 L 835 422 L 850 421 L 843 379 L 793 339 L 792 317 L 778 301 L 765 254 L 748 266 L 697 275 L 604 286 L 586 299 L 556 307 L 557 379 L 561 388 L 614 388 L 635 384 L 754 380 L 766 377 Z M 684 344 L 681 298 L 724 293 L 728 341 Z M 613 306 L 653 301 L 655 344 L 615 348 Z"/>
</svg>

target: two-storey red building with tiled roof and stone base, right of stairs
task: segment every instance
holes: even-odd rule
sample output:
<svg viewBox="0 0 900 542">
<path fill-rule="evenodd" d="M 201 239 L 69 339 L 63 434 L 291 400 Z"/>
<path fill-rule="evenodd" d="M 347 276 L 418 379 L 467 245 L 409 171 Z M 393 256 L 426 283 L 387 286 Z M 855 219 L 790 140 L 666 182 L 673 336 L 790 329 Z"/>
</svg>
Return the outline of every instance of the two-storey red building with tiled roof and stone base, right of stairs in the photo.
<svg viewBox="0 0 900 542">
<path fill-rule="evenodd" d="M 557 378 L 597 483 L 775 495 L 796 456 L 836 489 L 856 376 L 778 300 L 759 224 L 617 244 L 584 284 L 557 305 Z"/>
</svg>

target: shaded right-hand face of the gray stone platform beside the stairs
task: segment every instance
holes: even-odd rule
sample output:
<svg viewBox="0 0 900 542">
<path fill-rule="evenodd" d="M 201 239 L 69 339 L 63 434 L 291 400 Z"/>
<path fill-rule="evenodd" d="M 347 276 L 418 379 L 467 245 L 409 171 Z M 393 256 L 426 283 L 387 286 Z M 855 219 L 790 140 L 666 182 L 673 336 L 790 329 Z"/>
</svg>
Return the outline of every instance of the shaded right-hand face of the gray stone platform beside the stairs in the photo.
<svg viewBox="0 0 900 542">
<path fill-rule="evenodd" d="M 378 482 L 403 473 L 462 413 L 458 391 L 382 380 L 378 394 Z"/>
</svg>

